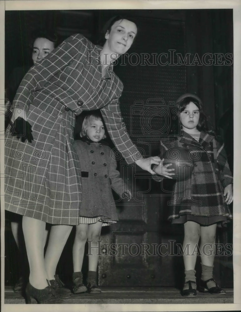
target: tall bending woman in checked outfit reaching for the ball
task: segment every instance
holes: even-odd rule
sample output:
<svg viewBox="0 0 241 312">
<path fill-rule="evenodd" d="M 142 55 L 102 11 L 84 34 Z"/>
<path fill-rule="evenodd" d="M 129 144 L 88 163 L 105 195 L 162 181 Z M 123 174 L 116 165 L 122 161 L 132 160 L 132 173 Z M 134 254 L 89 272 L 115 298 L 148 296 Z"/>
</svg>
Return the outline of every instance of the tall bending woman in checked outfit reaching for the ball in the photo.
<svg viewBox="0 0 241 312">
<path fill-rule="evenodd" d="M 31 67 L 17 90 L 12 105 L 14 136 L 9 133 L 5 142 L 5 209 L 23 216 L 29 303 L 56 302 L 49 294 L 53 287 L 55 295 L 65 297 L 55 270 L 80 215 L 80 165 L 72 146 L 75 116 L 100 108 L 110 138 L 128 163 L 151 173 L 150 164 L 159 163 L 158 157 L 138 159 L 120 113 L 123 84 L 112 63 L 128 51 L 136 34 L 133 22 L 117 17 L 107 28 L 103 48 L 73 35 Z M 44 259 L 46 222 L 55 226 Z"/>
</svg>

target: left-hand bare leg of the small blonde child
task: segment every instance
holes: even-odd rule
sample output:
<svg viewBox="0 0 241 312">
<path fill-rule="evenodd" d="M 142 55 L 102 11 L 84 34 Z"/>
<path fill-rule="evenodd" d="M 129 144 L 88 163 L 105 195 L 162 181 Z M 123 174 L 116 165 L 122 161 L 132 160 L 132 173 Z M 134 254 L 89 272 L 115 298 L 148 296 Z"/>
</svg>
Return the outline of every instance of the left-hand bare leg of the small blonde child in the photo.
<svg viewBox="0 0 241 312">
<path fill-rule="evenodd" d="M 76 226 L 75 241 L 73 245 L 73 265 L 74 272 L 80 272 L 84 258 L 84 246 L 87 240 L 89 224 L 79 224 Z"/>
</svg>

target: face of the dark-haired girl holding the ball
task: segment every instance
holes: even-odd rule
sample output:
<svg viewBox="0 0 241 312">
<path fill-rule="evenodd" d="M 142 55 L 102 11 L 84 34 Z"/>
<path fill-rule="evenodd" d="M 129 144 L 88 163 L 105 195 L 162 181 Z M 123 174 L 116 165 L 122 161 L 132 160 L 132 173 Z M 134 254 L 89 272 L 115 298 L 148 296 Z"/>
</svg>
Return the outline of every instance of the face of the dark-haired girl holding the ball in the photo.
<svg viewBox="0 0 241 312">
<path fill-rule="evenodd" d="M 199 117 L 199 108 L 193 102 L 190 102 L 180 114 L 182 129 L 187 133 L 193 133 L 193 131 L 197 130 Z"/>
</svg>

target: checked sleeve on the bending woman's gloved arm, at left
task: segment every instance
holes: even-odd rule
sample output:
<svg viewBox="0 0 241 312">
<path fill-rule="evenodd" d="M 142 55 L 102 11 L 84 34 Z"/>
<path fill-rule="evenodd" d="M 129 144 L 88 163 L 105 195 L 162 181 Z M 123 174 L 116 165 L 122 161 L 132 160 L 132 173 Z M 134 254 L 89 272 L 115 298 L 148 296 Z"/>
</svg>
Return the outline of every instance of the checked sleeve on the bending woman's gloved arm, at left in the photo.
<svg viewBox="0 0 241 312">
<path fill-rule="evenodd" d="M 32 66 L 17 89 L 12 108 L 20 107 L 27 112 L 34 98 L 33 92 L 40 90 L 56 73 L 65 68 L 78 53 L 82 55 L 86 48 L 86 45 L 83 44 L 84 40 L 85 38 L 80 34 L 70 36 L 43 60 Z"/>
</svg>

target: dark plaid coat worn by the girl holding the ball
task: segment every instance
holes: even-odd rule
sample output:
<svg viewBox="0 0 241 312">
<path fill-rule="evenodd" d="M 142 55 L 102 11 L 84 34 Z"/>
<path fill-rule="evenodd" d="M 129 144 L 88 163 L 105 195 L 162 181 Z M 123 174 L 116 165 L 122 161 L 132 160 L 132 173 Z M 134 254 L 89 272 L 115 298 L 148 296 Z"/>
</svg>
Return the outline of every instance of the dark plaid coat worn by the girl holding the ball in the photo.
<svg viewBox="0 0 241 312">
<path fill-rule="evenodd" d="M 172 152 L 170 154 L 175 155 L 175 151 L 181 152 L 183 148 L 190 149 L 193 171 L 190 178 L 175 183 L 172 199 L 168 202 L 168 219 L 176 219 L 185 214 L 231 218 L 223 196 L 224 188 L 233 183 L 224 144 L 204 132 L 201 132 L 197 142 L 182 131 L 181 136 L 172 142 L 161 142 L 160 157 L 165 151 L 169 150 Z M 155 180 L 161 181 L 162 178 L 156 176 Z"/>
</svg>

